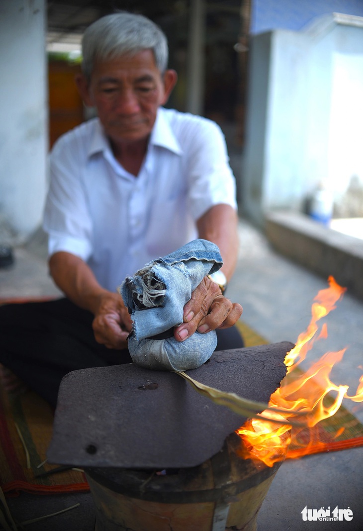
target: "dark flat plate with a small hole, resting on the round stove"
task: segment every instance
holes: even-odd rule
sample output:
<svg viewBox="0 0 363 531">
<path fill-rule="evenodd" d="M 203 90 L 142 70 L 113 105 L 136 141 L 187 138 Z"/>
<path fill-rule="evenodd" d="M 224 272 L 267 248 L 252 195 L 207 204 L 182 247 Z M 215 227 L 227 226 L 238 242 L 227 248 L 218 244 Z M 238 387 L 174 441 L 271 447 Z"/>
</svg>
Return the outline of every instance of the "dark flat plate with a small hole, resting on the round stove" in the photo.
<svg viewBox="0 0 363 531">
<path fill-rule="evenodd" d="M 289 342 L 214 353 L 195 380 L 268 402 L 286 374 Z M 67 374 L 60 385 L 50 463 L 182 468 L 203 463 L 246 418 L 215 405 L 175 373 L 133 363 Z"/>
</svg>

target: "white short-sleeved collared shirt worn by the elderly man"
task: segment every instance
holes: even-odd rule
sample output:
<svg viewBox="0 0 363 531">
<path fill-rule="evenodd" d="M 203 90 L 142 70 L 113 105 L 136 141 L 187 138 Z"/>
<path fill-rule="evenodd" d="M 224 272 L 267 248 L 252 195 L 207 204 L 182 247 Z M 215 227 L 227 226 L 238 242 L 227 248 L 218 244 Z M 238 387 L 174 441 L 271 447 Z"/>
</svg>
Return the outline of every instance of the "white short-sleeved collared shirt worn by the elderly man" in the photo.
<svg viewBox="0 0 363 531">
<path fill-rule="evenodd" d="M 63 135 L 50 157 L 44 215 L 49 255 L 80 256 L 101 286 L 198 237 L 196 221 L 213 205 L 236 204 L 235 178 L 217 124 L 158 109 L 135 177 L 115 159 L 98 118 Z"/>
</svg>

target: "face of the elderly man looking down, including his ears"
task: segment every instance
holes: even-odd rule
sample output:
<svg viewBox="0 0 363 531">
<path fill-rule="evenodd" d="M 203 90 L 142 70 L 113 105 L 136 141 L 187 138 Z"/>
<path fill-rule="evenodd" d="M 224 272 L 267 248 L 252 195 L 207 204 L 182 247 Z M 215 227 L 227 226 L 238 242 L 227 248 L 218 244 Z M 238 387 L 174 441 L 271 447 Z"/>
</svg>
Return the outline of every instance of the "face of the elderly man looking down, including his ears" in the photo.
<svg viewBox="0 0 363 531">
<path fill-rule="evenodd" d="M 157 110 L 174 87 L 176 74 L 162 77 L 151 50 L 124 55 L 94 65 L 86 103 L 97 107 L 109 138 L 137 142 L 148 138 Z"/>
</svg>

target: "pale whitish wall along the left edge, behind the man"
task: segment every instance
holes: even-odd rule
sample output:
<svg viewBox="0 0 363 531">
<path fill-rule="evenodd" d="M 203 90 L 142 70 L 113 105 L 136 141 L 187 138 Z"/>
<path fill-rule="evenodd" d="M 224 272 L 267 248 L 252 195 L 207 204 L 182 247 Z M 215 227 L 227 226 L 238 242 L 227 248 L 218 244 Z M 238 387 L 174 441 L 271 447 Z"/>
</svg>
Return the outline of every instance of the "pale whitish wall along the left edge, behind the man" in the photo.
<svg viewBox="0 0 363 531">
<path fill-rule="evenodd" d="M 44 4 L 0 0 L 0 234 L 10 243 L 39 226 L 46 192 Z"/>
</svg>

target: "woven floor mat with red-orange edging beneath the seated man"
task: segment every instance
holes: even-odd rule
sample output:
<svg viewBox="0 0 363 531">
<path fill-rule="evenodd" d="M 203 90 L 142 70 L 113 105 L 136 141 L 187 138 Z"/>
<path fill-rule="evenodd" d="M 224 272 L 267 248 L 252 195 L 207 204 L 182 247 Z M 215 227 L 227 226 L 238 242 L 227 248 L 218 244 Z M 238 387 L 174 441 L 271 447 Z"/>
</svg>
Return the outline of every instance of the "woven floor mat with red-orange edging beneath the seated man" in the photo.
<svg viewBox="0 0 363 531">
<path fill-rule="evenodd" d="M 12 299 L 11 302 L 25 300 Z M 246 347 L 268 344 L 265 338 L 244 322 L 239 322 L 238 328 L 244 336 Z M 83 473 L 75 470 L 36 477 L 56 468 L 47 463 L 42 464 L 46 459 L 52 426 L 53 412 L 36 393 L 27 391 L 22 395 L 12 396 L 0 386 L 0 486 L 7 495 L 14 495 L 19 491 L 53 494 L 89 490 Z M 343 407 L 334 417 L 318 426 L 316 444 L 314 441 L 310 443 L 307 453 L 363 445 L 363 425 Z M 308 435 L 304 431 L 298 436 L 296 444 L 307 441 Z M 296 444 L 293 440 L 288 457 L 295 457 Z"/>
</svg>

